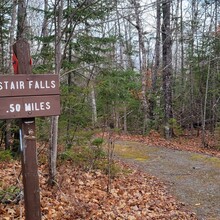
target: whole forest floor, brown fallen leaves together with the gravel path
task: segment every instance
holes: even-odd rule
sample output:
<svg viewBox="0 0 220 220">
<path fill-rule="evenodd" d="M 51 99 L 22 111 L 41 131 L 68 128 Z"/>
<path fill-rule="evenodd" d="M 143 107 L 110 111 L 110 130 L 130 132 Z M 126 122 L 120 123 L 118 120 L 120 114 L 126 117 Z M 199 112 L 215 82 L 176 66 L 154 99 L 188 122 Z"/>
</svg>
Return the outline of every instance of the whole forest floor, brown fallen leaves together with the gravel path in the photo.
<svg viewBox="0 0 220 220">
<path fill-rule="evenodd" d="M 218 151 L 202 149 L 199 139 L 167 142 L 154 132 L 110 138 L 120 158 L 112 179 L 103 169 L 85 170 L 64 161 L 51 188 L 41 158 L 42 220 L 220 219 Z M 0 162 L 0 220 L 24 219 L 20 169 L 19 161 Z"/>
</svg>

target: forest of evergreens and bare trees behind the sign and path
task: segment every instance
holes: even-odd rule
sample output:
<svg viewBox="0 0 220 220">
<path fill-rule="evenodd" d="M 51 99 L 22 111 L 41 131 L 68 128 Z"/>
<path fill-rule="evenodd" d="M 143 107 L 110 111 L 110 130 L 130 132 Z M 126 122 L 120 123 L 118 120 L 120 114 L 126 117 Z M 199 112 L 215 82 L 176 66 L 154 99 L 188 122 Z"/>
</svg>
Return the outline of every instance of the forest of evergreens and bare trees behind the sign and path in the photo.
<svg viewBox="0 0 220 220">
<path fill-rule="evenodd" d="M 36 118 L 51 185 L 57 159 L 100 150 L 106 132 L 220 149 L 219 12 L 216 0 L 0 2 L 0 74 L 16 74 L 13 45 L 26 39 L 32 73 L 59 77 L 61 114 Z M 18 130 L 18 120 L 0 120 L 5 157 L 19 149 Z"/>
</svg>

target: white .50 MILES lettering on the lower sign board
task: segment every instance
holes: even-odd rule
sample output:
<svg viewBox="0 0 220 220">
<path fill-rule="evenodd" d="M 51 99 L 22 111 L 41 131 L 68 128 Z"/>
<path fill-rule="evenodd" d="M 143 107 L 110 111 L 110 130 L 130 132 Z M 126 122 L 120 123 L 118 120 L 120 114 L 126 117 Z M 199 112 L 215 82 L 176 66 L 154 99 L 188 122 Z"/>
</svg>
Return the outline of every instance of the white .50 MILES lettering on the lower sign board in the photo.
<svg viewBox="0 0 220 220">
<path fill-rule="evenodd" d="M 46 111 L 50 110 L 51 104 L 50 102 L 29 102 L 24 103 L 24 106 L 21 104 L 10 104 L 9 110 L 6 111 L 7 113 L 11 112 L 20 112 L 24 109 L 25 112 L 32 112 L 32 111 Z"/>
</svg>

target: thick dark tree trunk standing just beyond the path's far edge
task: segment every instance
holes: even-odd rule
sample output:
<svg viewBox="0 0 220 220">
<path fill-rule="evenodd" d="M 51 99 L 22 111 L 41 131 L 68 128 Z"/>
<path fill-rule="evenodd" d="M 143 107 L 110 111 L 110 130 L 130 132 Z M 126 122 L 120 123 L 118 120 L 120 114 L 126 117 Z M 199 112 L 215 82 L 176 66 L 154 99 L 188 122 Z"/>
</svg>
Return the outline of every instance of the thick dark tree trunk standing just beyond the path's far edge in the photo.
<svg viewBox="0 0 220 220">
<path fill-rule="evenodd" d="M 163 24 L 163 92 L 164 92 L 164 132 L 165 137 L 171 138 L 173 135 L 170 120 L 173 118 L 172 112 L 172 39 L 170 29 L 170 1 L 162 3 Z"/>
</svg>

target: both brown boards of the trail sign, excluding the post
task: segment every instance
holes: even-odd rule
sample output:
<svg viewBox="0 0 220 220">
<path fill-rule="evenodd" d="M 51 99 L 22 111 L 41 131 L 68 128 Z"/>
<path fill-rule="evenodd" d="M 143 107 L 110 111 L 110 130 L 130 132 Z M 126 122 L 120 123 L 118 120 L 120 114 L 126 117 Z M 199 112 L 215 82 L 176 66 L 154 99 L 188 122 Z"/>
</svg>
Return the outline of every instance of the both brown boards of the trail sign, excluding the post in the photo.
<svg viewBox="0 0 220 220">
<path fill-rule="evenodd" d="M 0 119 L 59 114 L 58 75 L 0 75 Z"/>
</svg>

